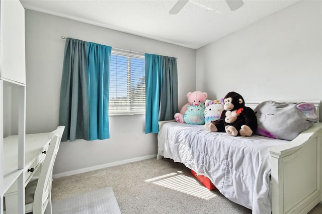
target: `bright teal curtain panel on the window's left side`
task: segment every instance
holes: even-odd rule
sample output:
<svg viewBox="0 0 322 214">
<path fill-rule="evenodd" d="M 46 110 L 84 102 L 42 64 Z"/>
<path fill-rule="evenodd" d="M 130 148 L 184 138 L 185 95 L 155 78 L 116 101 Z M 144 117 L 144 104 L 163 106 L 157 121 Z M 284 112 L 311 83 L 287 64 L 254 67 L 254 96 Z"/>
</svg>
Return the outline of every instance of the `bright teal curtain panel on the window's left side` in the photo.
<svg viewBox="0 0 322 214">
<path fill-rule="evenodd" d="M 90 140 L 110 138 L 109 79 L 112 47 L 88 43 Z"/>
</svg>

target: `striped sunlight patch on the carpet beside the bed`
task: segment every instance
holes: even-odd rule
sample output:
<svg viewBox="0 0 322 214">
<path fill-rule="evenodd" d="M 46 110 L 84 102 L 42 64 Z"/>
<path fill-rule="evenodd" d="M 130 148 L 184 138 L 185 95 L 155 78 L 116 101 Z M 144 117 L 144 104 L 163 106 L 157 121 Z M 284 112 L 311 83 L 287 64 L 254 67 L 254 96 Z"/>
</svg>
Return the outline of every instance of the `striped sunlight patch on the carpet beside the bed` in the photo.
<svg viewBox="0 0 322 214">
<path fill-rule="evenodd" d="M 178 172 L 181 173 L 180 171 Z M 213 191 L 207 189 L 194 177 L 189 177 L 175 172 L 150 178 L 145 180 L 145 182 L 152 182 L 153 184 L 184 192 L 206 200 L 216 196 Z"/>
</svg>

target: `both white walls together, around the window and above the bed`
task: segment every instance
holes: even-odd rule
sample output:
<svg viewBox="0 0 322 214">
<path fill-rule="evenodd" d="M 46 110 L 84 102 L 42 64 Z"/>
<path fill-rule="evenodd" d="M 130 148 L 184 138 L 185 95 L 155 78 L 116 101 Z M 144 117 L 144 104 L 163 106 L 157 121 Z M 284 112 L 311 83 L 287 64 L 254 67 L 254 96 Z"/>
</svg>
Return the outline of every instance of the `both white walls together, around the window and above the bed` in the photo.
<svg viewBox="0 0 322 214">
<path fill-rule="evenodd" d="M 58 125 L 65 40 L 178 57 L 179 109 L 193 90 L 215 99 L 235 90 L 246 100 L 322 99 L 321 2 L 302 1 L 197 51 L 26 10 L 26 132 Z M 196 68 L 196 70 L 195 70 Z M 54 174 L 156 154 L 144 116 L 110 117 L 108 140 L 62 142 Z"/>
</svg>

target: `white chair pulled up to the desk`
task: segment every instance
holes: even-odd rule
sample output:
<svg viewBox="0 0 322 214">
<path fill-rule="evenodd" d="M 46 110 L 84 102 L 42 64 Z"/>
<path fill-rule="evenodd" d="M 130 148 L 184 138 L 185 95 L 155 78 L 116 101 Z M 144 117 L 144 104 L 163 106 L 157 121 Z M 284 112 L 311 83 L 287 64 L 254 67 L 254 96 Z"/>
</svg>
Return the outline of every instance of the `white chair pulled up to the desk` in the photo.
<svg viewBox="0 0 322 214">
<path fill-rule="evenodd" d="M 51 141 L 46 153 L 39 177 L 31 178 L 25 189 L 26 213 L 43 214 L 52 213 L 51 207 L 51 182 L 52 170 L 59 149 L 61 136 L 65 127 L 58 127 L 50 134 Z"/>
</svg>

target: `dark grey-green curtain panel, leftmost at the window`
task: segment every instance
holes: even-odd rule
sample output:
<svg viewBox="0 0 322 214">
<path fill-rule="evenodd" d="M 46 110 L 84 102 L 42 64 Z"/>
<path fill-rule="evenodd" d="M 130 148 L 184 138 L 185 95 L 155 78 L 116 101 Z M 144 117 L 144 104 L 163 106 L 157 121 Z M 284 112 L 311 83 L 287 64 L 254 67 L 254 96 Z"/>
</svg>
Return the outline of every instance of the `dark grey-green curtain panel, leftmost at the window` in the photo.
<svg viewBox="0 0 322 214">
<path fill-rule="evenodd" d="M 60 86 L 62 141 L 89 140 L 87 42 L 67 38 Z"/>
</svg>

